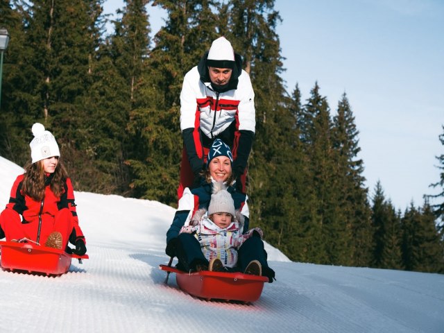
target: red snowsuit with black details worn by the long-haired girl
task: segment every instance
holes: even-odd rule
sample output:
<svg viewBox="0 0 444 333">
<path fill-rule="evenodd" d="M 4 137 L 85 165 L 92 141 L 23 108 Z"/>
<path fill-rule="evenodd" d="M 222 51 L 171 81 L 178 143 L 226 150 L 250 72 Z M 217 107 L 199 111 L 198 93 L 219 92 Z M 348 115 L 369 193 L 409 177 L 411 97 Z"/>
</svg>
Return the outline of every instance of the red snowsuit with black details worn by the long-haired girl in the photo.
<svg viewBox="0 0 444 333">
<path fill-rule="evenodd" d="M 0 225 L 5 232 L 6 240 L 31 239 L 44 244 L 49 234 L 58 231 L 62 234 L 62 249 L 68 241 L 75 244 L 77 239 L 83 239 L 82 230 L 78 225 L 76 204 L 74 203 L 74 190 L 71 180 L 65 180 L 65 191 L 58 198 L 49 186 L 53 175 L 46 178 L 46 187 L 42 201 L 35 201 L 23 193 L 24 175 L 20 175 L 12 185 L 9 203 L 0 214 Z M 20 218 L 22 215 L 22 219 Z M 40 224 L 40 236 L 38 234 Z M 76 237 L 74 238 L 74 232 Z M 71 239 L 69 239 L 72 233 Z M 37 239 L 38 237 L 38 239 Z M 86 244 L 86 241 L 85 241 Z"/>
</svg>

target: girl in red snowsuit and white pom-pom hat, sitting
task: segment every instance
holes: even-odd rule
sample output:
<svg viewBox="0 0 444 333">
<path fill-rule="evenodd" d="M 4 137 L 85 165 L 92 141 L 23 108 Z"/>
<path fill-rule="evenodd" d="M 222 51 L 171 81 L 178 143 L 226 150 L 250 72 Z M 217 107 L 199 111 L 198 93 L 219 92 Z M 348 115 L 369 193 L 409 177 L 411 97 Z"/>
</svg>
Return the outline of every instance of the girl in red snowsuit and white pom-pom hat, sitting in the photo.
<svg viewBox="0 0 444 333">
<path fill-rule="evenodd" d="M 12 185 L 9 203 L 0 214 L 0 239 L 84 255 L 86 241 L 78 225 L 74 189 L 59 160 L 56 139 L 41 123 L 35 123 L 32 131 L 32 162 Z M 68 241 L 76 248 L 71 250 Z"/>
</svg>

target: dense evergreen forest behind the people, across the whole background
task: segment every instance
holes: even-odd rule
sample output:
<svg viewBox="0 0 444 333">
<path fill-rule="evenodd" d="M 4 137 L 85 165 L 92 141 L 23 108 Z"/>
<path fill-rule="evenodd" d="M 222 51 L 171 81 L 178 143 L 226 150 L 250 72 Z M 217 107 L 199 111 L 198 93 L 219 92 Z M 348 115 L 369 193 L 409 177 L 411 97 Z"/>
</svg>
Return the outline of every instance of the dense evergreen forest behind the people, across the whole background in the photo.
<svg viewBox="0 0 444 333">
<path fill-rule="evenodd" d="M 152 38 L 148 6 L 167 12 Z M 177 207 L 182 80 L 225 35 L 255 89 L 250 226 L 297 262 L 444 273 L 444 149 L 437 205 L 401 212 L 382 184 L 369 191 L 348 96 L 285 88 L 273 0 L 126 0 L 120 14 L 107 33 L 103 0 L 0 1 L 2 157 L 31 162 L 40 122 L 77 191 Z"/>
</svg>

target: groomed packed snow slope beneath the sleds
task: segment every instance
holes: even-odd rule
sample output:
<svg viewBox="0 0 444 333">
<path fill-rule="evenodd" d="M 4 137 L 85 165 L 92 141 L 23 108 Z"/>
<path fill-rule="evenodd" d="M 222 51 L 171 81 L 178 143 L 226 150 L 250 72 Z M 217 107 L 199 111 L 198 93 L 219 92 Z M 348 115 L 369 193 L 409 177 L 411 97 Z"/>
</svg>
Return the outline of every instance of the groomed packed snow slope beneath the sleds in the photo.
<svg viewBox="0 0 444 333">
<path fill-rule="evenodd" d="M 0 207 L 22 171 L 0 157 Z M 158 268 L 173 208 L 85 192 L 76 203 L 89 259 L 58 277 L 0 270 L 0 332 L 444 332 L 444 275 L 302 264 L 266 244 L 277 280 L 259 300 L 200 300 Z"/>
</svg>

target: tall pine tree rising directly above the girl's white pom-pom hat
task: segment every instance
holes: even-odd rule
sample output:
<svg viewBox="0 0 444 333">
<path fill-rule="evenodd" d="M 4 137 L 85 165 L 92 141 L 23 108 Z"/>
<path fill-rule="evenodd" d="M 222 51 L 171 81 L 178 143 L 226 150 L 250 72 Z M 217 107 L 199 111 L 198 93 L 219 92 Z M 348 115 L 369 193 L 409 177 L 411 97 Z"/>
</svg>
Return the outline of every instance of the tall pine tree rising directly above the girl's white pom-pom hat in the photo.
<svg viewBox="0 0 444 333">
<path fill-rule="evenodd" d="M 28 36 L 38 53 L 33 65 L 44 79 L 42 116 L 44 121 L 63 122 L 64 137 L 76 137 L 77 119 L 83 119 L 76 101 L 91 83 L 90 56 L 96 36 L 92 37 L 89 2 L 38 0 L 33 6 Z"/>
</svg>

